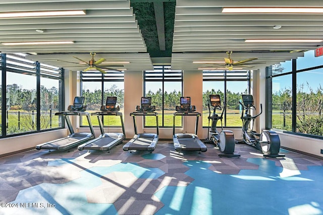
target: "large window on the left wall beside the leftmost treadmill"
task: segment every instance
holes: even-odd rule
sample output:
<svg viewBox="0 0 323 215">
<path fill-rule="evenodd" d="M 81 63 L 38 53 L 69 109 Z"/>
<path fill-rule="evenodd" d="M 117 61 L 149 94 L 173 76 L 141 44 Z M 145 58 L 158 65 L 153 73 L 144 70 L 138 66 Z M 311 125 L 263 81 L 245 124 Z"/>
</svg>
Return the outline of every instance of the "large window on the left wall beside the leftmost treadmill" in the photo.
<svg viewBox="0 0 323 215">
<path fill-rule="evenodd" d="M 2 81 L 6 86 L 2 94 L 6 97 L 3 136 L 64 126 L 55 116 L 63 107 L 62 69 L 26 60 L 25 56 L 21 53 L 2 55 L 1 77 L 6 77 Z"/>
</svg>

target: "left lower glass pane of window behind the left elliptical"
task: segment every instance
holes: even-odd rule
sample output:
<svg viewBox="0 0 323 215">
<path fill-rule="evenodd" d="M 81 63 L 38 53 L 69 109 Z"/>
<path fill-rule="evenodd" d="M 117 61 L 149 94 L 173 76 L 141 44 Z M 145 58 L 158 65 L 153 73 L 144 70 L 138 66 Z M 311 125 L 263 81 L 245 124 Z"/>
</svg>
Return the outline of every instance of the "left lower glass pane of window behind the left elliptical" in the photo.
<svg viewBox="0 0 323 215">
<path fill-rule="evenodd" d="M 208 126 L 208 105 L 207 103 L 209 102 L 209 95 L 211 94 L 220 94 L 221 96 L 221 105 L 223 108 L 223 103 L 224 103 L 224 81 L 203 81 L 203 127 Z M 212 107 L 210 106 L 211 109 L 211 114 L 213 113 Z M 217 110 L 217 114 L 218 113 Z M 210 122 L 211 123 L 211 122 Z M 219 122 L 220 123 L 220 122 Z M 224 120 L 223 120 L 224 123 Z M 220 125 L 220 124 L 219 124 Z"/>
</svg>

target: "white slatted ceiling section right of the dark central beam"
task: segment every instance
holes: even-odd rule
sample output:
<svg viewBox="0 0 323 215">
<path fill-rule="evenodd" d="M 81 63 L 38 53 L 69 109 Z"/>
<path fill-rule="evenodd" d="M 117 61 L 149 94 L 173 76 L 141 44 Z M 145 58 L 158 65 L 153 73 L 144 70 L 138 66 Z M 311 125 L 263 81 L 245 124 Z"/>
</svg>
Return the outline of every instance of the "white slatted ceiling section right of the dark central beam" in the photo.
<svg viewBox="0 0 323 215">
<path fill-rule="evenodd" d="M 323 39 L 323 14 L 223 14 L 223 7 L 323 7 L 322 1 L 177 1 L 172 68 L 197 70 L 223 61 L 257 58 L 242 69 L 259 69 L 303 56 L 322 42 L 245 42 L 246 39 Z M 282 26 L 274 29 L 274 26 Z M 225 63 L 223 63 L 225 66 Z M 238 67 L 238 66 L 237 66 Z"/>
</svg>

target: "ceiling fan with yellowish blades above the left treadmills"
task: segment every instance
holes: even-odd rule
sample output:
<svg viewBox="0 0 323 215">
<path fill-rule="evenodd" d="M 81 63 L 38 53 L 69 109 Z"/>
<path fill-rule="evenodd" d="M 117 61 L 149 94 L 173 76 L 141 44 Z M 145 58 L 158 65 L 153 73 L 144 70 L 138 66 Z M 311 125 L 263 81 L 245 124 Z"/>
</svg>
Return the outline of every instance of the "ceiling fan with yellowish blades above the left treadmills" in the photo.
<svg viewBox="0 0 323 215">
<path fill-rule="evenodd" d="M 112 70 L 112 71 L 117 71 L 117 72 L 120 72 L 119 70 L 117 69 L 113 69 L 113 68 L 110 68 L 110 67 L 123 67 L 123 65 L 106 65 L 106 66 L 100 66 L 101 63 L 103 63 L 105 61 L 104 58 L 101 58 L 97 61 L 94 60 L 94 56 L 96 55 L 95 52 L 90 52 L 90 55 L 92 56 L 92 59 L 89 60 L 88 62 L 80 59 L 80 58 L 77 58 L 75 56 L 73 56 L 73 58 L 83 62 L 85 65 L 87 65 L 88 67 L 86 69 L 84 69 L 83 71 L 86 72 L 86 71 L 89 71 L 89 70 L 97 70 L 101 73 L 106 73 L 103 69 L 106 69 L 106 70 Z M 61 61 L 61 60 L 58 60 L 58 61 Z M 75 62 L 68 62 L 68 61 L 63 61 L 63 62 L 67 62 L 67 63 L 73 63 L 73 64 L 80 64 L 80 63 L 75 63 Z"/>
</svg>

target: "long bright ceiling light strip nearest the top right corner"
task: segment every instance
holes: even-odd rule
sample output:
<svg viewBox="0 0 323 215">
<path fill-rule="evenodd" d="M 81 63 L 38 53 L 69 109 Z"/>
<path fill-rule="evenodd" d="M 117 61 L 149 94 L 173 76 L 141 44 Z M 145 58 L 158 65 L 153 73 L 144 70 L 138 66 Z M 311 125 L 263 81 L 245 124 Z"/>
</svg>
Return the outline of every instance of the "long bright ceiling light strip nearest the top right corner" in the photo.
<svg viewBox="0 0 323 215">
<path fill-rule="evenodd" d="M 295 13 L 295 14 L 320 14 L 323 13 L 323 8 L 292 8 L 292 7 L 228 7 L 223 8 L 222 13 L 251 13 L 251 14 L 259 14 L 259 13 L 273 13 L 273 14 L 285 14 L 285 13 Z"/>
</svg>

